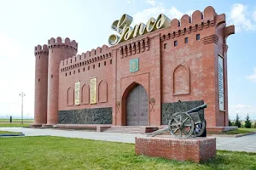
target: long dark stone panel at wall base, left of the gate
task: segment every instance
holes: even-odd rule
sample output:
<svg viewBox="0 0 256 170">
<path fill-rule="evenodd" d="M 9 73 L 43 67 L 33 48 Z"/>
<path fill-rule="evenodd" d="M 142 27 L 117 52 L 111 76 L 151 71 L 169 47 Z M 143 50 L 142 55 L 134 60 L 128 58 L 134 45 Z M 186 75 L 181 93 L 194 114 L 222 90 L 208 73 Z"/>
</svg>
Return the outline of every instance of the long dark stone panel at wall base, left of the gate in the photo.
<svg viewBox="0 0 256 170">
<path fill-rule="evenodd" d="M 112 107 L 59 111 L 60 124 L 112 124 Z"/>
</svg>

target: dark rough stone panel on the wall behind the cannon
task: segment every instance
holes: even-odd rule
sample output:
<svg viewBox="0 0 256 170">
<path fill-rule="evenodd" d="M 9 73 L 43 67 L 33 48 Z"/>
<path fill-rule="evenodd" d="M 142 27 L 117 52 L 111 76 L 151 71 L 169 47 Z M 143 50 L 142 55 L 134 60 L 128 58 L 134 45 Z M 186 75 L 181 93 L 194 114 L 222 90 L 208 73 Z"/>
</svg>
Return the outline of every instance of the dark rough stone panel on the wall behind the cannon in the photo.
<svg viewBox="0 0 256 170">
<path fill-rule="evenodd" d="M 176 112 L 189 111 L 199 105 L 204 105 L 204 100 L 163 103 L 161 105 L 161 109 L 162 109 L 161 124 L 167 125 L 169 120 L 171 119 L 172 114 Z M 198 113 L 201 120 L 204 119 L 204 110 L 198 111 Z"/>
</svg>

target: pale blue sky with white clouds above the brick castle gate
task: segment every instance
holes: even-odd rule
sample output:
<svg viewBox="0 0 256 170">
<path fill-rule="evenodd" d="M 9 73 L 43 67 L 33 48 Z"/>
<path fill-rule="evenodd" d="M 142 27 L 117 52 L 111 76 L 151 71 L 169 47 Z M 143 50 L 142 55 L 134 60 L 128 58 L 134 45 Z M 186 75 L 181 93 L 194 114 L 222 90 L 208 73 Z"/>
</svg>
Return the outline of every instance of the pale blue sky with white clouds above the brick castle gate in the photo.
<svg viewBox="0 0 256 170">
<path fill-rule="evenodd" d="M 0 6 L 0 116 L 20 116 L 20 92 L 24 116 L 33 116 L 33 48 L 50 37 L 69 37 L 79 42 L 79 54 L 108 44 L 114 33 L 110 26 L 122 14 L 133 17 L 133 24 L 147 22 L 160 13 L 170 19 L 203 11 L 208 5 L 226 14 L 236 34 L 228 38 L 228 81 L 230 118 L 236 112 L 256 119 L 256 2 L 171 1 L 171 0 L 9 0 Z"/>
</svg>

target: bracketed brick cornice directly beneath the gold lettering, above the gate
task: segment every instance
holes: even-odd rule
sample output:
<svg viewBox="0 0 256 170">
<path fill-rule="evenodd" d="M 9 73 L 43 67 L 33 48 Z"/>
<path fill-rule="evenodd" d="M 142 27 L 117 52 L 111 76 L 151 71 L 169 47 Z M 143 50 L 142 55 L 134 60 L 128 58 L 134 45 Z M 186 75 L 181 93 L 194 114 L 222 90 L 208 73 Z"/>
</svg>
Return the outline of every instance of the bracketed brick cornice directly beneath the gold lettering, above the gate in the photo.
<svg viewBox="0 0 256 170">
<path fill-rule="evenodd" d="M 139 54 L 149 50 L 149 38 L 145 37 L 136 42 L 131 42 L 119 47 L 119 54 L 121 59 L 133 54 Z"/>
</svg>

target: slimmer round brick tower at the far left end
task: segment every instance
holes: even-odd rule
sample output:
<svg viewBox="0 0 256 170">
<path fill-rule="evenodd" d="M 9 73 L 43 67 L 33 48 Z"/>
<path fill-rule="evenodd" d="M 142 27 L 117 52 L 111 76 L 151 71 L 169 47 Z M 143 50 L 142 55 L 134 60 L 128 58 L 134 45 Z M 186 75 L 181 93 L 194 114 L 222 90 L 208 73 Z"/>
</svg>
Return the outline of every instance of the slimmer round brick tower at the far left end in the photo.
<svg viewBox="0 0 256 170">
<path fill-rule="evenodd" d="M 35 47 L 35 104 L 33 126 L 47 122 L 48 47 L 44 44 Z"/>
</svg>

